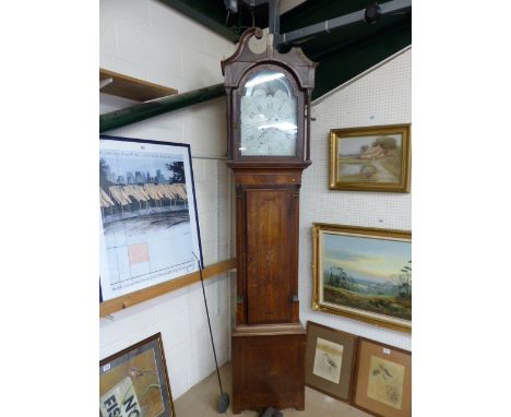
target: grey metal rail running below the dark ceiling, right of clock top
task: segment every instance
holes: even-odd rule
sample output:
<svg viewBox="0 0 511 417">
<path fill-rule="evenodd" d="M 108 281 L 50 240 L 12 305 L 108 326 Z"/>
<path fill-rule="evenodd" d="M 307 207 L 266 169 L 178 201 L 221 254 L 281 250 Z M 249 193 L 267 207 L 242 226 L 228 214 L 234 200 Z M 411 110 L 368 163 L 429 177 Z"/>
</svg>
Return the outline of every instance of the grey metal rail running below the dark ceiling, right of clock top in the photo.
<svg viewBox="0 0 511 417">
<path fill-rule="evenodd" d="M 381 15 L 409 12 L 412 10 L 412 0 L 393 0 L 379 4 Z M 275 47 L 285 44 L 298 44 L 300 40 L 321 33 L 329 33 L 340 27 L 349 26 L 355 23 L 366 22 L 366 9 L 343 16 L 330 19 L 328 21 L 316 23 L 310 26 L 290 31 L 285 34 L 275 35 Z"/>
</svg>

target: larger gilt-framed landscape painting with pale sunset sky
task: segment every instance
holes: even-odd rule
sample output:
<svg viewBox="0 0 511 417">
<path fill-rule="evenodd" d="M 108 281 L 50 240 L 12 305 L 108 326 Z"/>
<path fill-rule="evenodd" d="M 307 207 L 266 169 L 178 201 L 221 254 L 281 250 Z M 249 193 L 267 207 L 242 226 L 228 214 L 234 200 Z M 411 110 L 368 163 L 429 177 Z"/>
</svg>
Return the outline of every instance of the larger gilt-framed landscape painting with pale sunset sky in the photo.
<svg viewBox="0 0 511 417">
<path fill-rule="evenodd" d="M 412 233 L 314 223 L 312 308 L 412 330 Z"/>
</svg>

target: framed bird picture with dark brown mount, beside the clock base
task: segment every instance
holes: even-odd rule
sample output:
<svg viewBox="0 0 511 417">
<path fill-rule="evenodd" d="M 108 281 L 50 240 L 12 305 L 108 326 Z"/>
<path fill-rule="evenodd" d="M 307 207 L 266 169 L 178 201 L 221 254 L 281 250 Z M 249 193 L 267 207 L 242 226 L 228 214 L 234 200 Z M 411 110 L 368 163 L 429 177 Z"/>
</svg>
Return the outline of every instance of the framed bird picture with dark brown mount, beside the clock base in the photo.
<svg viewBox="0 0 511 417">
<path fill-rule="evenodd" d="M 358 336 L 307 322 L 306 385 L 349 402 Z"/>
</svg>

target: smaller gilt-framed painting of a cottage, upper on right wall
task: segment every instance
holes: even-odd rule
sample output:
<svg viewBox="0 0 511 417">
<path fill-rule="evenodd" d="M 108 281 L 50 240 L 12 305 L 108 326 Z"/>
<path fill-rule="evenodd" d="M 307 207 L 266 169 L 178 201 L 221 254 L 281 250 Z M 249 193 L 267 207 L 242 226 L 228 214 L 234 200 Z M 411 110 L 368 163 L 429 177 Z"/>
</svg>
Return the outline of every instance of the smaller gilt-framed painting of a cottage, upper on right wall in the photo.
<svg viewBox="0 0 511 417">
<path fill-rule="evenodd" d="M 409 192 L 409 124 L 330 131 L 330 189 Z"/>
</svg>

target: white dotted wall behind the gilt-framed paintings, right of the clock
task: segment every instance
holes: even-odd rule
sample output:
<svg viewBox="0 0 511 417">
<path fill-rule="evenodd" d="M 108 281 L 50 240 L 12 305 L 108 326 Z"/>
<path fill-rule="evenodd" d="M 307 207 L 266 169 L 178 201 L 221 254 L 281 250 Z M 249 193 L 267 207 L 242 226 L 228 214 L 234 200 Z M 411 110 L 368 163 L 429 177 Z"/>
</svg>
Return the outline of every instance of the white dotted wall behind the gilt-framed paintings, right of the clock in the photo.
<svg viewBox="0 0 511 417">
<path fill-rule="evenodd" d="M 412 50 L 313 105 L 312 165 L 304 171 L 300 193 L 300 319 L 411 349 L 408 333 L 384 330 L 311 309 L 312 223 L 409 230 L 412 194 L 329 190 L 330 130 L 412 121 Z M 413 134 L 412 134 L 413 135 Z M 413 140 L 412 140 L 413 141 Z M 328 207 L 328 210 L 320 210 Z"/>
</svg>

